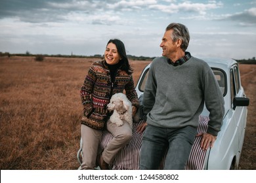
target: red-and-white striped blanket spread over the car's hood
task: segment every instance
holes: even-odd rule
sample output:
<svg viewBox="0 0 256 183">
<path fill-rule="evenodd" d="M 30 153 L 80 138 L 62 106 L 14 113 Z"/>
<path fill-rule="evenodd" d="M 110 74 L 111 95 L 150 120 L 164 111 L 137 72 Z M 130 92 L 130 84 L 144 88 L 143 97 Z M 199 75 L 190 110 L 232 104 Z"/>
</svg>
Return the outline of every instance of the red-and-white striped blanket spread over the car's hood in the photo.
<svg viewBox="0 0 256 183">
<path fill-rule="evenodd" d="M 200 116 L 200 125 L 198 126 L 198 133 L 205 132 L 207 130 L 207 123 L 209 121 L 208 116 Z M 140 121 L 137 124 L 133 124 L 133 137 L 129 144 L 127 144 L 120 152 L 118 152 L 116 159 L 110 165 L 113 170 L 138 170 L 139 169 L 139 153 L 142 142 L 142 133 L 137 133 L 137 126 L 144 121 Z M 102 142 L 98 152 L 102 152 L 103 148 L 106 148 L 108 142 L 113 138 L 112 133 L 104 130 L 102 135 Z M 205 162 L 206 151 L 200 148 L 201 137 L 196 137 L 192 151 L 186 164 L 186 170 L 199 170 L 203 169 Z M 164 165 L 164 158 L 161 162 L 160 169 Z"/>
</svg>

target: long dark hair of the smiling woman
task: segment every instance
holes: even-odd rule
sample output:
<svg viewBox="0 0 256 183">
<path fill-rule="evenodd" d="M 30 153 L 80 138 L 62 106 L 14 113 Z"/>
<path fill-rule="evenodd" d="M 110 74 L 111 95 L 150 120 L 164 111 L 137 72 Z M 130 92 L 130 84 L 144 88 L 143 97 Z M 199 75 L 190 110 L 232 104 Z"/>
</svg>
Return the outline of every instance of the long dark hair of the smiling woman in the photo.
<svg viewBox="0 0 256 183">
<path fill-rule="evenodd" d="M 129 61 L 128 61 L 128 58 L 126 55 L 125 44 L 123 44 L 123 42 L 121 42 L 119 39 L 110 39 L 110 41 L 108 41 L 108 44 L 110 42 L 112 42 L 113 44 L 116 45 L 117 52 L 118 52 L 119 56 L 121 57 L 120 69 L 125 71 L 128 75 L 131 75 L 133 73 L 133 69 L 131 68 L 131 65 L 129 64 Z M 108 46 L 108 44 L 107 44 L 107 46 Z"/>
</svg>

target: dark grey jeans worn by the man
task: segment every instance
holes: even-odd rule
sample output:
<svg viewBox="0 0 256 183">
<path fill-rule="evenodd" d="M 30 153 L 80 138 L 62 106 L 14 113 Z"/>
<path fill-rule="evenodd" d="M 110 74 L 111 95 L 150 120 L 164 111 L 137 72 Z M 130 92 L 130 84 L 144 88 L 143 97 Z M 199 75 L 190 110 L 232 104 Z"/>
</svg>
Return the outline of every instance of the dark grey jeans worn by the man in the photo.
<svg viewBox="0 0 256 183">
<path fill-rule="evenodd" d="M 147 125 L 140 149 L 140 169 L 159 169 L 167 150 L 163 169 L 183 170 L 188 161 L 195 135 L 196 127 L 192 126 L 167 129 Z"/>
</svg>

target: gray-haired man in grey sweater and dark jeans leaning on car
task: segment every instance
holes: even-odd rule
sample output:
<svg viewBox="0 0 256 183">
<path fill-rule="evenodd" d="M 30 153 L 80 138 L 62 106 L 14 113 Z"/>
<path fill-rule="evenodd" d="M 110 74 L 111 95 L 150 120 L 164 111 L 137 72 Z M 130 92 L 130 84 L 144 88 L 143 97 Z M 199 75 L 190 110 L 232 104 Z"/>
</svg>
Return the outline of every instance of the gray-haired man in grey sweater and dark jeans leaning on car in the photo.
<svg viewBox="0 0 256 183">
<path fill-rule="evenodd" d="M 199 116 L 205 103 L 209 123 L 200 146 L 207 150 L 217 138 L 224 115 L 224 99 L 207 63 L 194 58 L 188 47 L 190 35 L 185 25 L 167 26 L 160 47 L 162 56 L 152 61 L 143 107 L 146 129 L 140 151 L 140 169 L 184 169 L 188 161 Z"/>
</svg>

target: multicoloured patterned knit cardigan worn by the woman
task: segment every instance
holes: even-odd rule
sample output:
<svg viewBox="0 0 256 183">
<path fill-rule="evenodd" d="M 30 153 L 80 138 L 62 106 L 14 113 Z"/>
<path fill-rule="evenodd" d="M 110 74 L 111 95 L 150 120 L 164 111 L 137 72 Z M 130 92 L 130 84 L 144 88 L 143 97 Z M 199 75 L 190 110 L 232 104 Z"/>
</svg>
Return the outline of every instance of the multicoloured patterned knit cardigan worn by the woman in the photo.
<svg viewBox="0 0 256 183">
<path fill-rule="evenodd" d="M 109 117 L 106 106 L 110 102 L 110 98 L 115 93 L 124 91 L 131 103 L 138 108 L 139 99 L 135 91 L 133 76 L 118 69 L 116 79 L 112 83 L 106 61 L 93 63 L 80 91 L 84 107 L 81 124 L 93 129 L 104 129 L 104 124 Z"/>
</svg>

